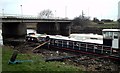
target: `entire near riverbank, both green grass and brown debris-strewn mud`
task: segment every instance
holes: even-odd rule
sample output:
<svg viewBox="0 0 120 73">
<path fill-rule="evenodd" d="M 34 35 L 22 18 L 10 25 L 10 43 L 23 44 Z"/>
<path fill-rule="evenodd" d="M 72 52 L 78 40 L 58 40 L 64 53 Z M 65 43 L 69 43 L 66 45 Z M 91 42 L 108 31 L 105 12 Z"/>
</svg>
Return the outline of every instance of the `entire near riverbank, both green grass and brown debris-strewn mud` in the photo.
<svg viewBox="0 0 120 73">
<path fill-rule="evenodd" d="M 30 44 L 29 44 L 30 45 Z M 32 46 L 32 45 L 30 45 Z M 29 51 L 31 47 L 25 47 L 23 51 Z M 18 47 L 19 48 L 19 47 Z M 80 57 L 73 59 L 65 59 L 61 61 L 49 61 L 46 62 L 46 59 L 55 58 L 55 57 L 68 57 L 75 56 L 74 53 L 39 48 L 34 52 L 20 52 L 17 56 L 17 60 L 32 60 L 32 62 L 23 62 L 21 64 L 10 64 L 8 62 L 13 54 L 13 48 L 10 46 L 2 47 L 2 71 L 27 71 L 27 72 L 82 72 L 84 71 L 119 71 L 120 65 L 114 63 L 113 61 L 105 58 L 99 58 L 96 56 L 90 56 L 85 54 L 80 54 Z M 93 58 L 93 59 L 92 59 Z M 83 59 L 83 60 L 81 60 Z M 88 60 L 87 60 L 88 59 Z M 34 71 L 34 72 L 33 72 Z"/>
</svg>

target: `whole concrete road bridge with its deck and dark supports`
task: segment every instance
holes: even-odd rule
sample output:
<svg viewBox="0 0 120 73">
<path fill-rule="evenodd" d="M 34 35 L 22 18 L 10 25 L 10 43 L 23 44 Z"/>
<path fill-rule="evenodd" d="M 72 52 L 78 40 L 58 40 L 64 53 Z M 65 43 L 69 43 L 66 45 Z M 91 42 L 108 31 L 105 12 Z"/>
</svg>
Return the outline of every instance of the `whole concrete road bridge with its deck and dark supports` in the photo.
<svg viewBox="0 0 120 73">
<path fill-rule="evenodd" d="M 3 44 L 5 44 L 6 39 L 24 39 L 27 34 L 27 23 L 37 23 L 36 30 L 39 34 L 68 36 L 72 20 L 4 16 L 0 18 L 0 23 L 2 24 Z"/>
</svg>

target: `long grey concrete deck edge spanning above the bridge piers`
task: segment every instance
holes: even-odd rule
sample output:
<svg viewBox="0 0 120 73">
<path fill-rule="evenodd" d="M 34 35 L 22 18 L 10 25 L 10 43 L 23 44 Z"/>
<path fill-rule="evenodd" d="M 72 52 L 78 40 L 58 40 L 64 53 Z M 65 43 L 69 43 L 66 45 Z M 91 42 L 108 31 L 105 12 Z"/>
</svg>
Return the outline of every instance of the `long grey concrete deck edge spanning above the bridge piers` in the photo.
<svg viewBox="0 0 120 73">
<path fill-rule="evenodd" d="M 16 18 L 16 17 L 3 17 L 0 22 L 71 22 L 72 20 L 65 19 L 41 19 L 41 18 Z"/>
</svg>

